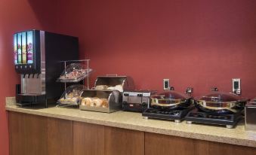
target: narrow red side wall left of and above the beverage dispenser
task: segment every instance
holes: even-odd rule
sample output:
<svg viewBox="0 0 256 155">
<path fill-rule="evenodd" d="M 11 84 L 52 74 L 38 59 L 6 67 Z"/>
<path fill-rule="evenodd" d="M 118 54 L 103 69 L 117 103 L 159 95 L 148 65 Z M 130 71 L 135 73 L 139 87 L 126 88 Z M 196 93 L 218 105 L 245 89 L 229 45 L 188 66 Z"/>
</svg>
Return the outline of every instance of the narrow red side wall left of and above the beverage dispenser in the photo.
<svg viewBox="0 0 256 155">
<path fill-rule="evenodd" d="M 8 118 L 5 97 L 14 96 L 19 83 L 14 71 L 13 34 L 26 29 L 53 30 L 55 2 L 28 0 L 0 1 L 0 154 L 8 155 Z M 55 5 L 56 6 L 56 5 Z M 45 11 L 45 8 L 48 11 Z"/>
</svg>

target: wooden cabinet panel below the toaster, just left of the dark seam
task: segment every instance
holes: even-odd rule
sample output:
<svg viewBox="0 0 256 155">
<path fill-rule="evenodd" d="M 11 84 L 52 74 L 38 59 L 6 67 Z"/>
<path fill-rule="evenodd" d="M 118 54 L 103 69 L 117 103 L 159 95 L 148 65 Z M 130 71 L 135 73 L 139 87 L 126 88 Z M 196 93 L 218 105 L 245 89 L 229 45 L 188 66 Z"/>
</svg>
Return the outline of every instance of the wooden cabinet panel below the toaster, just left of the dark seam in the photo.
<svg viewBox="0 0 256 155">
<path fill-rule="evenodd" d="M 106 155 L 143 155 L 144 132 L 105 127 Z"/>
</svg>

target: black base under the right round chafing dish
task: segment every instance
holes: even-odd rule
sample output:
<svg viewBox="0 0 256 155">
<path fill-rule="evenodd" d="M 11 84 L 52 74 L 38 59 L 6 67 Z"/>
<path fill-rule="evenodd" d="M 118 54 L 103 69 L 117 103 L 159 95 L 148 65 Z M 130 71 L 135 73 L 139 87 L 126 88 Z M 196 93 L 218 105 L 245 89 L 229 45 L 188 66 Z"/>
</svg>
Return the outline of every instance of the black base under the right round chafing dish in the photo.
<svg viewBox="0 0 256 155">
<path fill-rule="evenodd" d="M 214 114 L 200 111 L 197 108 L 193 109 L 193 111 L 190 111 L 187 114 L 187 117 L 185 117 L 185 120 L 187 120 L 188 124 L 208 123 L 226 126 L 229 129 L 234 128 L 241 119 L 242 111 L 239 111 L 235 114 Z"/>
</svg>

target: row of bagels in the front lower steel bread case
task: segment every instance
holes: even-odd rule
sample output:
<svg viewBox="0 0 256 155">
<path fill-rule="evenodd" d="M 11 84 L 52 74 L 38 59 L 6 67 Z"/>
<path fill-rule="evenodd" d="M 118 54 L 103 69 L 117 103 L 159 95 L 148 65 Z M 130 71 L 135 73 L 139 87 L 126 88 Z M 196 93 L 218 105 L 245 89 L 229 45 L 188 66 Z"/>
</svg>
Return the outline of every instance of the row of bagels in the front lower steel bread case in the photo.
<svg viewBox="0 0 256 155">
<path fill-rule="evenodd" d="M 108 108 L 109 102 L 107 99 L 100 99 L 97 97 L 94 97 L 94 98 L 85 97 L 84 99 L 82 99 L 81 105 L 90 106 L 90 107 Z"/>
</svg>

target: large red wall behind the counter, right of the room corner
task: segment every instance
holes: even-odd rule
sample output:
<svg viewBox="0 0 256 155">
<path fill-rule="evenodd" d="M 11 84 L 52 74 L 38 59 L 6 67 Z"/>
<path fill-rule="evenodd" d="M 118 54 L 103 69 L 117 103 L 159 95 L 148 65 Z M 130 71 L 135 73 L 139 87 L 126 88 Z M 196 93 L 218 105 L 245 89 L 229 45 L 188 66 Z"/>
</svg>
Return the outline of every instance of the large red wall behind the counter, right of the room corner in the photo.
<svg viewBox="0 0 256 155">
<path fill-rule="evenodd" d="M 127 74 L 137 89 L 211 87 L 256 96 L 256 1 L 61 1 L 57 31 L 77 35 L 82 57 L 102 74 Z"/>
</svg>

